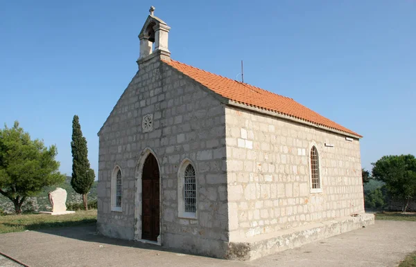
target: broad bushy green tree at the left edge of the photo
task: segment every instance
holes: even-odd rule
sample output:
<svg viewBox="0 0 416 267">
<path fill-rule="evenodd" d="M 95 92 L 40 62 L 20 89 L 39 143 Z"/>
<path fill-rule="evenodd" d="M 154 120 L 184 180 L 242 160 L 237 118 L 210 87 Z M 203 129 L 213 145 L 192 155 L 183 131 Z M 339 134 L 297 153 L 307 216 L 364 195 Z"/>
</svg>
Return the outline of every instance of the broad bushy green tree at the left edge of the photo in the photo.
<svg viewBox="0 0 416 267">
<path fill-rule="evenodd" d="M 42 140 L 31 140 L 17 121 L 12 128 L 4 125 L 0 130 L 0 193 L 12 201 L 16 214 L 21 214 L 28 196 L 65 180 L 58 172 L 57 154 L 55 145 L 47 148 Z"/>
</svg>

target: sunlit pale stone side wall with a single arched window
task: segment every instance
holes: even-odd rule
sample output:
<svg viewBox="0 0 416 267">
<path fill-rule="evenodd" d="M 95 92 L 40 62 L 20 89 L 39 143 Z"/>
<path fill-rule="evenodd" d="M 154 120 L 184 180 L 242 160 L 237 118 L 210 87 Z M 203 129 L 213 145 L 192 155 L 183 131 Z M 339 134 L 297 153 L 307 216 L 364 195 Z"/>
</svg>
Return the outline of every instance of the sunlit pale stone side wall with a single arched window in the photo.
<svg viewBox="0 0 416 267">
<path fill-rule="evenodd" d="M 229 241 L 364 212 L 358 140 L 232 106 L 225 122 Z M 322 192 L 312 194 L 313 144 Z"/>
</svg>

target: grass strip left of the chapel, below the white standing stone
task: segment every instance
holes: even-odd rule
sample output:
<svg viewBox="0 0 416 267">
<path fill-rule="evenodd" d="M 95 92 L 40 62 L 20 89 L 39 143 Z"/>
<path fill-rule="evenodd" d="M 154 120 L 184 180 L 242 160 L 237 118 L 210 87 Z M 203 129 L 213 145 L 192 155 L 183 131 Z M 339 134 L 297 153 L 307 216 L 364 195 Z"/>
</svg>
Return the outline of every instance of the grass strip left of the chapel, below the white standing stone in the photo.
<svg viewBox="0 0 416 267">
<path fill-rule="evenodd" d="M 75 214 L 47 215 L 7 215 L 0 217 L 0 234 L 6 232 L 22 232 L 64 226 L 94 224 L 97 221 L 97 210 L 80 210 Z"/>
</svg>

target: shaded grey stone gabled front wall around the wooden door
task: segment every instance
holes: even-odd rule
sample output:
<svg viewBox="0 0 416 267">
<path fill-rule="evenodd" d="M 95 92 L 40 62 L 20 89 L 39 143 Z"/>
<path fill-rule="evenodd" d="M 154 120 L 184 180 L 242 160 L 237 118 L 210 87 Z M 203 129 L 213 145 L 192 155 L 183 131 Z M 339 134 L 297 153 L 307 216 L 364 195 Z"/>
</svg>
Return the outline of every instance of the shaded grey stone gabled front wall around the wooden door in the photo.
<svg viewBox="0 0 416 267">
<path fill-rule="evenodd" d="M 206 89 L 157 57 L 139 64 L 98 134 L 98 230 L 110 237 L 141 238 L 137 164 L 150 148 L 161 176 L 162 246 L 223 257 L 228 240 L 224 109 Z M 153 114 L 153 130 L 143 132 L 147 114 Z M 177 173 L 185 158 L 196 169 L 198 219 L 178 218 Z M 116 165 L 123 174 L 122 212 L 112 212 L 110 205 Z"/>
</svg>

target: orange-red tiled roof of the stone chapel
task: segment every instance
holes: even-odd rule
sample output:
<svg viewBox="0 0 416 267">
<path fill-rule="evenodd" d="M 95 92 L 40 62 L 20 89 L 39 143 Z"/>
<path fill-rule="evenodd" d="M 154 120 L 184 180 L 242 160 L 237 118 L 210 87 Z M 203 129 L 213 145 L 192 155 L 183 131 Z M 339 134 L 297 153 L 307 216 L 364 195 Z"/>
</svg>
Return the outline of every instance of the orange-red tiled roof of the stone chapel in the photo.
<svg viewBox="0 0 416 267">
<path fill-rule="evenodd" d="M 292 98 L 286 98 L 282 95 L 271 93 L 250 84 L 237 82 L 236 80 L 231 80 L 214 73 L 202 71 L 199 68 L 175 60 L 171 60 L 170 62 L 164 60 L 164 62 L 177 69 L 177 71 L 184 73 L 184 75 L 191 77 L 191 79 L 196 80 L 196 82 L 207 87 L 207 89 L 234 102 L 246 104 L 250 107 L 274 111 L 306 122 L 311 122 L 314 125 L 343 131 L 359 138 L 363 137 L 354 131 L 338 125 L 338 123 L 333 122 L 332 120 L 320 116 L 320 114 L 304 107 Z"/>
</svg>

